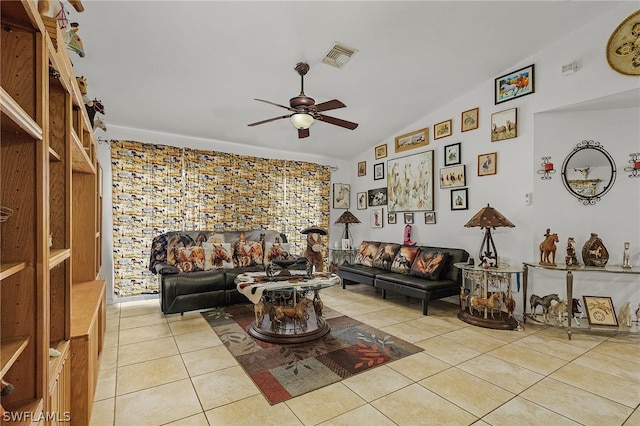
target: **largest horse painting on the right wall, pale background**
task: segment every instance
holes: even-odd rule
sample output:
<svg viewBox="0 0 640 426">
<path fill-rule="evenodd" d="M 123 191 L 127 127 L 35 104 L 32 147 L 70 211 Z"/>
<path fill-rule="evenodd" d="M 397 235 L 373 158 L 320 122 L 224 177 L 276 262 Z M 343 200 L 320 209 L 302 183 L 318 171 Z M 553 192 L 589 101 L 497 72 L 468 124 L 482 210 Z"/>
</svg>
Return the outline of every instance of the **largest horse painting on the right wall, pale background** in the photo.
<svg viewBox="0 0 640 426">
<path fill-rule="evenodd" d="M 387 161 L 389 212 L 434 210 L 433 151 Z"/>
</svg>

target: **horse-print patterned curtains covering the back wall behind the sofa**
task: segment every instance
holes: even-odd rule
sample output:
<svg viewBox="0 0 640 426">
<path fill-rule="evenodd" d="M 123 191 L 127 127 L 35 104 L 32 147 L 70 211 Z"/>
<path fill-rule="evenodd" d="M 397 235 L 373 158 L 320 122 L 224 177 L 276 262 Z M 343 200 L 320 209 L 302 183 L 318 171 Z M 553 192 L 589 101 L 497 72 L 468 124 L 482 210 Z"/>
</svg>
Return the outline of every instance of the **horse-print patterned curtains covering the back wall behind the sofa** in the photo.
<svg viewBox="0 0 640 426">
<path fill-rule="evenodd" d="M 149 250 L 167 231 L 273 229 L 303 254 L 300 231 L 329 229 L 328 166 L 123 140 L 111 142 L 111 165 L 119 297 L 158 292 Z"/>
</svg>

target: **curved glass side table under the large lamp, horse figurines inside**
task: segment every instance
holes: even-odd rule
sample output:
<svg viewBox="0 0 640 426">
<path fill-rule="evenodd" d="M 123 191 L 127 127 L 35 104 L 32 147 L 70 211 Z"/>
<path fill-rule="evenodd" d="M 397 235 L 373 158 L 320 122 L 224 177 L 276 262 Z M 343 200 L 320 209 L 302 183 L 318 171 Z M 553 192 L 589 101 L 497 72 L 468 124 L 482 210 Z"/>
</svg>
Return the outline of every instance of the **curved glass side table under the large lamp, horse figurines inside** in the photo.
<svg viewBox="0 0 640 426">
<path fill-rule="evenodd" d="M 480 265 L 464 262 L 455 263 L 454 266 L 462 269 L 458 312 L 460 320 L 478 327 L 498 330 L 518 328 L 518 321 L 513 317 L 515 301 L 511 295 L 511 285 L 513 275 L 522 272 L 521 268 L 500 264 L 498 267 L 485 269 Z"/>
</svg>

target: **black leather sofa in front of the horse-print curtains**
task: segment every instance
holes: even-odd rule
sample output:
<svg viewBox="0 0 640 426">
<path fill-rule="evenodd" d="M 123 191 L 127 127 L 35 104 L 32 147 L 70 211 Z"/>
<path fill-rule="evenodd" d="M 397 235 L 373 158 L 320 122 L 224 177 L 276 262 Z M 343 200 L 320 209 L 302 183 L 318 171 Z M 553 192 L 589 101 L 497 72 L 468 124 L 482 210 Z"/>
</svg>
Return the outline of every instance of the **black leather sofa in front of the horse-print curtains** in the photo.
<svg viewBox="0 0 640 426">
<path fill-rule="evenodd" d="M 271 256 L 288 251 L 287 237 L 272 230 L 172 231 L 156 236 L 149 269 L 158 276 L 164 314 L 248 302 L 234 280 L 262 271 Z M 306 259 L 298 257 L 304 262 Z M 294 268 L 295 269 L 295 268 Z"/>
</svg>

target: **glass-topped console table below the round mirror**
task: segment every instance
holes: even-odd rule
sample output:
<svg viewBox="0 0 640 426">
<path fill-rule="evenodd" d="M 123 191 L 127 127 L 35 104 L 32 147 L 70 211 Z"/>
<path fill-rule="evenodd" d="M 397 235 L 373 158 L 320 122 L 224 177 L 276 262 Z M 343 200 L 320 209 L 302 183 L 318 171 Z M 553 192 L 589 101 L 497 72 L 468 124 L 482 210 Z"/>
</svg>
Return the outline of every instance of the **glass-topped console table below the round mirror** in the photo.
<svg viewBox="0 0 640 426">
<path fill-rule="evenodd" d="M 523 275 L 523 280 L 522 280 L 522 312 L 523 312 L 523 317 L 524 317 L 524 321 L 527 321 L 527 286 L 529 283 L 529 268 L 535 268 L 535 269 L 545 269 L 545 270 L 549 270 L 549 271 L 563 271 L 566 272 L 565 274 L 565 280 L 566 280 L 566 287 L 567 287 L 567 310 L 569 311 L 571 309 L 571 304 L 573 303 L 573 273 L 574 272 L 585 272 L 585 273 L 594 273 L 594 272 L 600 272 L 600 273 L 611 273 L 611 274 L 640 274 L 640 267 L 634 266 L 631 268 L 623 268 L 620 265 L 611 265 L 611 266 L 605 266 L 605 267 L 597 267 L 597 266 L 584 266 L 584 265 L 578 265 L 578 266 L 566 266 L 563 264 L 558 264 L 556 266 L 548 266 L 548 265 L 540 265 L 539 263 L 533 263 L 533 262 L 523 262 L 523 270 L 524 270 L 524 275 Z M 586 309 L 586 307 L 584 307 L 584 309 Z M 532 318 L 534 319 L 534 318 Z M 567 315 L 567 336 L 569 337 L 569 340 L 571 340 L 571 313 L 568 312 Z M 615 327 L 614 328 L 615 331 L 620 331 L 619 327 Z M 598 328 L 598 330 L 603 330 L 602 328 Z"/>
</svg>

